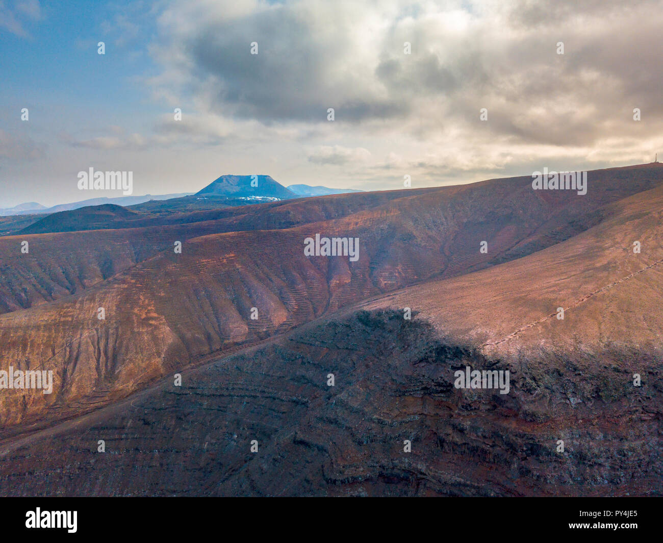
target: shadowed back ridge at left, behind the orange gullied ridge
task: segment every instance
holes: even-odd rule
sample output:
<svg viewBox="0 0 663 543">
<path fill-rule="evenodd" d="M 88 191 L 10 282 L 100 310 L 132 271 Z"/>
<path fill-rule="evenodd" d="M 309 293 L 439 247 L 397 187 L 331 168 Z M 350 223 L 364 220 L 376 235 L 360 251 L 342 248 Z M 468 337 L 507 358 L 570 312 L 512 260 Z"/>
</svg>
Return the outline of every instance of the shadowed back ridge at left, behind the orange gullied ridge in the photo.
<svg viewBox="0 0 663 543">
<path fill-rule="evenodd" d="M 424 194 L 416 189 L 408 194 Z M 400 191 L 325 196 L 310 205 L 304 200 L 283 200 L 243 207 L 173 214 L 144 214 L 113 222 L 113 232 L 86 232 L 84 216 L 72 214 L 80 231 L 62 234 L 22 234 L 0 238 L 0 313 L 26 309 L 80 293 L 127 270 L 175 241 L 214 232 L 272 230 L 334 219 L 384 205 L 402 196 Z M 128 228 L 134 226 L 134 228 Z M 59 224 L 53 224 L 58 230 Z M 21 254 L 21 244 L 30 253 Z M 20 257 L 17 258 L 17 255 Z"/>
</svg>

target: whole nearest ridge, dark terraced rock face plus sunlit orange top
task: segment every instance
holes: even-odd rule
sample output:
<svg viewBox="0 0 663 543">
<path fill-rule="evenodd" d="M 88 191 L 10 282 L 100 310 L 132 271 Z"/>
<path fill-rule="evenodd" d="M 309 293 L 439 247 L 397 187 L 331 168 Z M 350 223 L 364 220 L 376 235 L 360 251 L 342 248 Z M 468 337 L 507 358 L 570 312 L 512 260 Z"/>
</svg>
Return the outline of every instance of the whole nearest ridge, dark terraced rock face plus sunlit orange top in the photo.
<svg viewBox="0 0 663 543">
<path fill-rule="evenodd" d="M 181 387 L 169 376 L 7 439 L 0 489 L 663 495 L 663 187 L 605 212 L 540 252 L 383 295 L 184 372 Z M 454 388 L 466 365 L 510 370 L 511 392 Z"/>
</svg>

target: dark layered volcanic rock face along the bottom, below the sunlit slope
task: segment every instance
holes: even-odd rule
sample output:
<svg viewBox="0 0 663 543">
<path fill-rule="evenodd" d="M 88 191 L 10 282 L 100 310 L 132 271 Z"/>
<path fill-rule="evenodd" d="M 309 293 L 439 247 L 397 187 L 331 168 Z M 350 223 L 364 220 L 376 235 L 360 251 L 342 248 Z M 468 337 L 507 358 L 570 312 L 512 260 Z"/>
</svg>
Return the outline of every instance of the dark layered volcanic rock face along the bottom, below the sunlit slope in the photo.
<svg viewBox="0 0 663 543">
<path fill-rule="evenodd" d="M 591 362 L 488 360 L 400 311 L 354 313 L 0 445 L 0 493 L 662 494 L 661 360 L 639 389 Z M 511 370 L 510 393 L 454 388 L 465 364 Z"/>
</svg>

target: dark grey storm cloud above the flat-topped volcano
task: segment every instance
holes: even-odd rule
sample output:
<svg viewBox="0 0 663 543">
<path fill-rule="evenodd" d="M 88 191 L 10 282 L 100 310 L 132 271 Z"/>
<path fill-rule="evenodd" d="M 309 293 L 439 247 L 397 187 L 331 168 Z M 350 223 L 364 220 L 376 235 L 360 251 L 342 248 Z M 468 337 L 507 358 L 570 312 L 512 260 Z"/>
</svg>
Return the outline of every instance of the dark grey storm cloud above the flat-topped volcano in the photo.
<svg viewBox="0 0 663 543">
<path fill-rule="evenodd" d="M 328 108 L 345 120 L 394 117 L 406 110 L 400 100 L 377 96 L 365 74 L 345 70 L 353 54 L 349 42 L 320 37 L 307 9 L 270 9 L 241 21 L 203 23 L 186 37 L 191 76 L 215 86 L 212 106 L 238 117 L 324 121 Z M 258 54 L 251 54 L 257 42 Z"/>
</svg>

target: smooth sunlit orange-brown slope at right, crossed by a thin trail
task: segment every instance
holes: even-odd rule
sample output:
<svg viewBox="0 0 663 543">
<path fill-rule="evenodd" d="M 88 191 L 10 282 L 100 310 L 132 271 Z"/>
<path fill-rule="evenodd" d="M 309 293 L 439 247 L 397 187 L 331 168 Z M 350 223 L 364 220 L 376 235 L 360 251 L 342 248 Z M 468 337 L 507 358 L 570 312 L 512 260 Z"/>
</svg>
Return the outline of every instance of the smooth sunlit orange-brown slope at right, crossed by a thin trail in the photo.
<svg viewBox="0 0 663 543">
<path fill-rule="evenodd" d="M 490 270 L 410 287 L 365 307 L 412 307 L 444 334 L 500 356 L 518 350 L 658 351 L 663 188 L 621 200 L 608 214 L 562 244 Z M 560 307 L 564 319 L 558 319 Z"/>
</svg>

